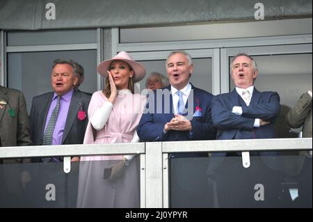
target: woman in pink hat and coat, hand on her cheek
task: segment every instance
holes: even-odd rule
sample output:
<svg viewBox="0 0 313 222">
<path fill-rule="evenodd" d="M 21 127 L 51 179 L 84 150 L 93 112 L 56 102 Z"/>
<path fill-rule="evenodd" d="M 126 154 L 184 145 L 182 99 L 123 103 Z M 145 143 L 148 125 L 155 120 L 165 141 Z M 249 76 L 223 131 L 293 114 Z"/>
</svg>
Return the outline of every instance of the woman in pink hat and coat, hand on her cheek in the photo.
<svg viewBox="0 0 313 222">
<path fill-rule="evenodd" d="M 83 143 L 138 142 L 146 98 L 134 93 L 134 83 L 145 77 L 145 68 L 121 51 L 97 72 L 106 77 L 106 86 L 91 97 Z M 77 207 L 140 207 L 139 172 L 134 156 L 81 157 Z"/>
</svg>

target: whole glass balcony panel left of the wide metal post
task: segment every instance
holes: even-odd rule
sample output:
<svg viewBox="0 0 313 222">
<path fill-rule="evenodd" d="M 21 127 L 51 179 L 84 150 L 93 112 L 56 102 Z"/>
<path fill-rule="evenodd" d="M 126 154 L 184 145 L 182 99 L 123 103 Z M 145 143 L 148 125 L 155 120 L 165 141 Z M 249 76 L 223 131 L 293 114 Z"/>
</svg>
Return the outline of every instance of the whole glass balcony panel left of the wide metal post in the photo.
<svg viewBox="0 0 313 222">
<path fill-rule="evenodd" d="M 133 159 L 116 180 L 104 169 L 116 161 L 0 164 L 1 207 L 140 207 L 140 160 Z M 105 198 L 103 198 L 105 197 Z"/>
</svg>

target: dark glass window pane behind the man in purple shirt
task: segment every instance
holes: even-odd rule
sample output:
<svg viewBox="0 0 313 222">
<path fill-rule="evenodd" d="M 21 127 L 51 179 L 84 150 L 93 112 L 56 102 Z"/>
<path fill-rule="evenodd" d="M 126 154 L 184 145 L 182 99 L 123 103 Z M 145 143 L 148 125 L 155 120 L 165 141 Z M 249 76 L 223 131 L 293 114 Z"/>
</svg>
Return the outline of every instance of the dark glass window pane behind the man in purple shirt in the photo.
<svg viewBox="0 0 313 222">
<path fill-rule="evenodd" d="M 97 90 L 97 51 L 42 51 L 8 54 L 8 87 L 22 90 L 27 109 L 34 96 L 51 92 L 51 67 L 56 58 L 72 59 L 81 64 L 85 80 L 79 89 L 88 93 Z"/>
</svg>

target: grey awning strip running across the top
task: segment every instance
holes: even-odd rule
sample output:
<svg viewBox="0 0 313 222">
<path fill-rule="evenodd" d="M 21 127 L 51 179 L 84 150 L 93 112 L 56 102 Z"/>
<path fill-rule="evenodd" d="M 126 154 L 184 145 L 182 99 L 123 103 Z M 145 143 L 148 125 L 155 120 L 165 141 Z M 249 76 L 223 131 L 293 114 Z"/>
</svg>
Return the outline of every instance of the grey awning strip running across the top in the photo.
<svg viewBox="0 0 313 222">
<path fill-rule="evenodd" d="M 0 29 L 70 29 L 255 20 L 250 0 L 0 0 Z M 262 0 L 265 19 L 312 17 L 310 0 Z"/>
</svg>

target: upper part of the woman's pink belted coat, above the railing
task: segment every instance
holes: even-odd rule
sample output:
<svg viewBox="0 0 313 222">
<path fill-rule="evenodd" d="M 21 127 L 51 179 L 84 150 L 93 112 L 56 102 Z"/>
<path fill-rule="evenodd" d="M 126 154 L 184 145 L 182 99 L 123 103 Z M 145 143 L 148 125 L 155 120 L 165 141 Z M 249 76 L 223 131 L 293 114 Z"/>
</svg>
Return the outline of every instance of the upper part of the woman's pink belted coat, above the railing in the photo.
<svg viewBox="0 0 313 222">
<path fill-rule="evenodd" d="M 102 91 L 93 93 L 88 107 L 89 120 L 98 107 L 108 100 Z M 90 121 L 86 129 L 83 144 L 129 143 L 134 136 L 136 127 L 141 119 L 146 98 L 143 95 L 132 94 L 130 90 L 119 90 L 109 119 L 104 128 L 97 131 L 93 137 L 93 126 Z M 122 156 L 93 156 L 81 157 L 81 161 L 122 159 Z"/>
</svg>

